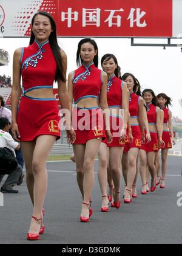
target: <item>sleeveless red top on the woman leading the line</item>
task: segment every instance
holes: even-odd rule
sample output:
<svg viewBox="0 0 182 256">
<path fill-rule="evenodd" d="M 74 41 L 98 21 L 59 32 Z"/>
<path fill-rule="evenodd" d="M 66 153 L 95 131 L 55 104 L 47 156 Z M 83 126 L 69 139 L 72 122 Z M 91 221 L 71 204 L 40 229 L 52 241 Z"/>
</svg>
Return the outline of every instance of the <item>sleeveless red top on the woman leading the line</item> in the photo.
<svg viewBox="0 0 182 256">
<path fill-rule="evenodd" d="M 22 95 L 32 89 L 52 88 L 55 74 L 56 61 L 48 40 L 41 45 L 35 40 L 30 46 L 22 48 Z"/>
</svg>

